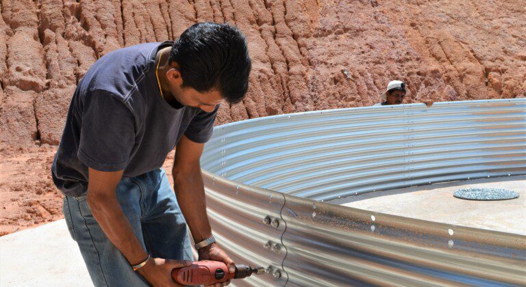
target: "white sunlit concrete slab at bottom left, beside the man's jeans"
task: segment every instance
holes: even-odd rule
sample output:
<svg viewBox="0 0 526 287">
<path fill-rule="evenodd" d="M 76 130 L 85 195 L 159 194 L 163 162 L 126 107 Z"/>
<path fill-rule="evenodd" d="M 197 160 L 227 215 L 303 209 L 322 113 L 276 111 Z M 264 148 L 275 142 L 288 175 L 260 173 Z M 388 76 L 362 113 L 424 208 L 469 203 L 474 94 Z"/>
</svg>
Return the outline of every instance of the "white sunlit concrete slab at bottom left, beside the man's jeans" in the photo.
<svg viewBox="0 0 526 287">
<path fill-rule="evenodd" d="M 64 219 L 0 237 L 0 286 L 93 286 Z"/>
</svg>

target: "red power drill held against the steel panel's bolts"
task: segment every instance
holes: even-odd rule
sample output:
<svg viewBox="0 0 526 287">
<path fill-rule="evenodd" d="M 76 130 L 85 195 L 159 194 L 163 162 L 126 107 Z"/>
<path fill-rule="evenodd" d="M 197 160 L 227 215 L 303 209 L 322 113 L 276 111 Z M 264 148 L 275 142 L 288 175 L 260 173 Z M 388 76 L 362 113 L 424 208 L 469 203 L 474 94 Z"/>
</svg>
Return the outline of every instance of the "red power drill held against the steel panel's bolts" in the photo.
<svg viewBox="0 0 526 287">
<path fill-rule="evenodd" d="M 253 273 L 266 273 L 263 267 L 252 268 L 236 265 L 236 272 L 229 273 L 227 264 L 219 261 L 201 260 L 192 265 L 172 270 L 172 278 L 181 285 L 210 285 L 229 279 L 249 277 Z"/>
</svg>

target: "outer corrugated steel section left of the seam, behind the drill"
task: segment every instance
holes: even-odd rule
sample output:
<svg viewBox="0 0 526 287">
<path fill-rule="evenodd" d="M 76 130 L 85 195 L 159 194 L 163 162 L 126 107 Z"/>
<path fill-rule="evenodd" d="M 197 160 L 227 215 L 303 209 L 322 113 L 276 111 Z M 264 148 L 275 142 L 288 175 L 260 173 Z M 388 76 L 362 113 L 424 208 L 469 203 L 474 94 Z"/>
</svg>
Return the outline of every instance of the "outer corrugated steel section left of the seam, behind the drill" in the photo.
<svg viewBox="0 0 526 287">
<path fill-rule="evenodd" d="M 236 285 L 283 285 L 287 281 L 281 265 L 286 249 L 281 249 L 281 236 L 286 225 L 273 227 L 264 218 L 281 218 L 284 196 L 275 191 L 254 189 L 243 184 L 219 178 L 203 171 L 207 212 L 218 244 L 236 264 L 249 264 L 268 268 L 264 275 L 253 275 L 239 280 Z M 272 245 L 265 245 L 270 241 Z M 276 244 L 279 247 L 275 247 Z M 275 278 L 274 271 L 280 276 Z M 242 281 L 242 282 L 241 282 Z"/>
</svg>

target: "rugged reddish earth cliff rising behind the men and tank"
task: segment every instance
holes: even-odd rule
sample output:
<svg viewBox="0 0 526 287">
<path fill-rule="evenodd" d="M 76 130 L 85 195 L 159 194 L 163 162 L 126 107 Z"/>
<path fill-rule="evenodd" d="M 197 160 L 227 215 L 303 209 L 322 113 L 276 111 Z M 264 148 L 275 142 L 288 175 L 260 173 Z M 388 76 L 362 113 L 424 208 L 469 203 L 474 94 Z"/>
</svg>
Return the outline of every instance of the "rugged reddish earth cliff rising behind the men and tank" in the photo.
<svg viewBox="0 0 526 287">
<path fill-rule="evenodd" d="M 408 102 L 524 97 L 526 5 L 514 1 L 1 0 L 0 143 L 55 145 L 90 65 L 192 23 L 247 36 L 251 87 L 217 124 L 373 105 L 391 79 Z"/>
</svg>

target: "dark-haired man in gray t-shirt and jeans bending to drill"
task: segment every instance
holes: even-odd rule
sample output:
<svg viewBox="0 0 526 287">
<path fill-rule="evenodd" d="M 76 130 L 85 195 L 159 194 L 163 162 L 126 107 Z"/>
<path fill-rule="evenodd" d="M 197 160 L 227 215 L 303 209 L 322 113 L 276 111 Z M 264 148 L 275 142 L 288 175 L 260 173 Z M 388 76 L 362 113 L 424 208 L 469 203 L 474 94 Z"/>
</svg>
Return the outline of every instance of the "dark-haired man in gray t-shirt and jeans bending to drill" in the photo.
<svg viewBox="0 0 526 287">
<path fill-rule="evenodd" d="M 175 285 L 171 270 L 192 260 L 187 224 L 199 260 L 234 271 L 212 236 L 199 159 L 250 70 L 236 27 L 199 23 L 176 42 L 108 53 L 79 82 L 51 171 L 95 286 Z M 161 168 L 173 148 L 175 193 Z"/>
</svg>

